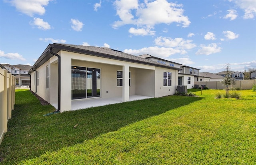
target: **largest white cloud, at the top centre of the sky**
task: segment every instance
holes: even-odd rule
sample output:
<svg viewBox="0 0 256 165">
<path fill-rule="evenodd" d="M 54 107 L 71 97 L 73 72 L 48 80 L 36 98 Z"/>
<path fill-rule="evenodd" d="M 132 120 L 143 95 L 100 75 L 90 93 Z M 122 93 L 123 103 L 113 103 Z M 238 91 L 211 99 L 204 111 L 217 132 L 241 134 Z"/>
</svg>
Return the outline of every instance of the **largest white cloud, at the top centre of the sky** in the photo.
<svg viewBox="0 0 256 165">
<path fill-rule="evenodd" d="M 166 0 L 145 0 L 144 2 L 130 0 L 129 3 L 127 3 L 127 0 L 116 0 L 114 6 L 120 20 L 114 22 L 112 25 L 113 28 L 133 24 L 140 30 L 144 26 L 147 29 L 154 29 L 156 24 L 171 24 L 174 22 L 183 27 L 190 25 L 188 17 L 183 15 L 184 10 L 182 9 L 182 4 L 169 3 Z M 135 29 L 133 28 L 132 30 Z M 149 34 L 154 35 L 154 33 Z"/>
</svg>

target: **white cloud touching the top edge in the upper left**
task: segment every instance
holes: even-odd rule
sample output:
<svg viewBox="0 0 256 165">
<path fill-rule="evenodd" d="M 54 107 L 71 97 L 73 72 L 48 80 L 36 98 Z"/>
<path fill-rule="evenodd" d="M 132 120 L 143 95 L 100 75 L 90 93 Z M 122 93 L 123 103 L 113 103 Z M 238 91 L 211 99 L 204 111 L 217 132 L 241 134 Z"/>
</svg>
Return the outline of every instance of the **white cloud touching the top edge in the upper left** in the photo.
<svg viewBox="0 0 256 165">
<path fill-rule="evenodd" d="M 32 17 L 34 14 L 44 15 L 44 6 L 47 6 L 49 1 L 50 0 L 11 0 L 10 3 L 15 6 L 19 12 Z"/>
</svg>

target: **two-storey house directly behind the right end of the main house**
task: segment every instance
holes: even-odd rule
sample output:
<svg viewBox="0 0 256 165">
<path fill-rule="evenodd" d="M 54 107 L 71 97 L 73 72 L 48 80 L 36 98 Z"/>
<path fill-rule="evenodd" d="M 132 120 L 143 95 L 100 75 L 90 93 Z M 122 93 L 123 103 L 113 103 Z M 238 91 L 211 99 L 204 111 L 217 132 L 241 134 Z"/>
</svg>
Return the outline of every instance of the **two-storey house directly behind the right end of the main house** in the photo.
<svg viewBox="0 0 256 165">
<path fill-rule="evenodd" d="M 175 68 L 180 68 L 181 70 L 178 72 L 178 85 L 186 85 L 187 89 L 193 88 L 194 81 L 197 80 L 197 77 L 199 76 L 200 69 L 197 69 L 197 68 L 192 68 L 190 66 L 178 64 L 176 62 L 164 60 L 162 58 L 154 57 L 149 54 L 143 54 L 143 55 L 140 55 L 139 57 L 146 58 L 148 60 L 152 60 L 160 64 L 167 64 Z"/>
</svg>

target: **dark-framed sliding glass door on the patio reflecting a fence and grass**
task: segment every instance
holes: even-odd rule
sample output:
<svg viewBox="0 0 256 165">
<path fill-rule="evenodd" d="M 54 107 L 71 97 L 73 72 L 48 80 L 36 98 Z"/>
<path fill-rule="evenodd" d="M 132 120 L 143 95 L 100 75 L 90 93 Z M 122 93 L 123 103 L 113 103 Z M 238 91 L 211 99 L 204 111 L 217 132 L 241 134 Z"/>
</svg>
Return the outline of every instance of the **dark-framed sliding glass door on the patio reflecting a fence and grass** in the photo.
<svg viewBox="0 0 256 165">
<path fill-rule="evenodd" d="M 72 66 L 72 99 L 100 97 L 100 69 Z"/>
</svg>

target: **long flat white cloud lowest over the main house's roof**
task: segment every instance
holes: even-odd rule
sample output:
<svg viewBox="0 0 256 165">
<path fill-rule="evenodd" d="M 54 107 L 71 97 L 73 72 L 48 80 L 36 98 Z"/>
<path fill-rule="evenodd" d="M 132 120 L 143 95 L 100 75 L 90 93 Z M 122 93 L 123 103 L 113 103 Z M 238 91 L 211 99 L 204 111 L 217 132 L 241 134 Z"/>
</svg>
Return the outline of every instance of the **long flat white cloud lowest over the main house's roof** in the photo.
<svg viewBox="0 0 256 165">
<path fill-rule="evenodd" d="M 164 47 L 158 47 L 158 46 L 152 46 L 148 48 L 142 48 L 139 50 L 132 50 L 132 49 L 125 49 L 123 52 L 128 54 L 133 54 L 136 56 L 142 55 L 142 54 L 150 54 L 152 56 L 156 56 L 159 58 L 168 58 L 171 55 L 180 53 L 184 54 L 186 51 L 179 50 L 179 49 L 173 49 L 173 48 L 164 48 Z"/>
</svg>

